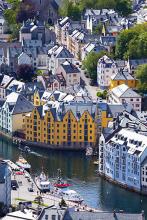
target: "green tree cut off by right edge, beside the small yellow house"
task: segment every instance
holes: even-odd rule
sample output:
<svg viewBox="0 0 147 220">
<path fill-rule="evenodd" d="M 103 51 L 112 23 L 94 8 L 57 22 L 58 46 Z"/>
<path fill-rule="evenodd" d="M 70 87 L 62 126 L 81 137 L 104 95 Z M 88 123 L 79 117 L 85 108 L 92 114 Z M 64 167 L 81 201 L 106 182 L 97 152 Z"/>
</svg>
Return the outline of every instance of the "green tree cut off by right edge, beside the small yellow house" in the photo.
<svg viewBox="0 0 147 220">
<path fill-rule="evenodd" d="M 135 71 L 138 79 L 137 88 L 140 92 L 147 92 L 147 64 L 138 66 Z"/>
</svg>

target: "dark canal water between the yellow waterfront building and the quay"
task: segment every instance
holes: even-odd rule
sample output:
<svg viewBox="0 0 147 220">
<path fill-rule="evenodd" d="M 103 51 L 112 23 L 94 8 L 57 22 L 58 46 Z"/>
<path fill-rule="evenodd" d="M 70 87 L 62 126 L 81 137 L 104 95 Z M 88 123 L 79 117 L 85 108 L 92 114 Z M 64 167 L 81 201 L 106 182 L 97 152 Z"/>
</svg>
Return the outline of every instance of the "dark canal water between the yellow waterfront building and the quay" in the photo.
<svg viewBox="0 0 147 220">
<path fill-rule="evenodd" d="M 97 167 L 93 159 L 86 158 L 84 153 L 49 151 L 31 149 L 24 155 L 32 165 L 32 172 L 40 174 L 42 167 L 50 177 L 55 177 L 57 169 L 61 168 L 62 176 L 72 184 L 84 198 L 85 202 L 100 210 L 124 210 L 127 212 L 145 211 L 147 219 L 147 196 L 129 192 L 116 185 L 108 183 L 96 173 Z M 0 137 L 0 157 L 16 161 L 20 151 L 16 145 Z"/>
</svg>

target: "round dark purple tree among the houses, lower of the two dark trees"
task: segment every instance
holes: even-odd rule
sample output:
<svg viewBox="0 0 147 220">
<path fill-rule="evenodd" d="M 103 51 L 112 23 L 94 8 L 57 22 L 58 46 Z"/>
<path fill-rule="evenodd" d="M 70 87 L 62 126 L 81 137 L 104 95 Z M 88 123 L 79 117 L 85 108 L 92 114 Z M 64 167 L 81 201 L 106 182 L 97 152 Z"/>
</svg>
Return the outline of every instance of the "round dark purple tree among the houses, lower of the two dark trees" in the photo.
<svg viewBox="0 0 147 220">
<path fill-rule="evenodd" d="M 31 82 L 34 77 L 34 69 L 28 64 L 21 64 L 17 68 L 17 78 L 22 79 L 25 82 Z"/>
</svg>

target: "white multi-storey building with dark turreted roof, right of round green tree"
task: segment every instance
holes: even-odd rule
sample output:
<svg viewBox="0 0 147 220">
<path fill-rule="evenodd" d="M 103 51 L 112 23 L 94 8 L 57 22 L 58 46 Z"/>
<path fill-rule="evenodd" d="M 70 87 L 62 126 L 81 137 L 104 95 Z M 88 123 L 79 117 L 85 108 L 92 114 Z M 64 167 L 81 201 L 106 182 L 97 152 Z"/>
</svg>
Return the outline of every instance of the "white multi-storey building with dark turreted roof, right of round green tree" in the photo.
<svg viewBox="0 0 147 220">
<path fill-rule="evenodd" d="M 114 60 L 104 55 L 97 63 L 97 83 L 101 89 L 108 89 L 111 76 L 117 73 L 118 68 Z"/>
</svg>

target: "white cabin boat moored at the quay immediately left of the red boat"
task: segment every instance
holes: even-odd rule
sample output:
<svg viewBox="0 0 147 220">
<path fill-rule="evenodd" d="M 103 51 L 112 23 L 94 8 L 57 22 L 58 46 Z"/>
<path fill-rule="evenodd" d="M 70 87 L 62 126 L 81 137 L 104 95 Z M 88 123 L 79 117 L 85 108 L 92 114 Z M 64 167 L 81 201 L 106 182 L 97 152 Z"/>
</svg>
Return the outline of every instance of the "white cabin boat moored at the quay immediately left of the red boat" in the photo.
<svg viewBox="0 0 147 220">
<path fill-rule="evenodd" d="M 35 178 L 35 182 L 36 182 L 36 185 L 37 185 L 38 189 L 41 192 L 48 192 L 48 191 L 50 191 L 51 183 L 48 180 L 48 178 L 46 177 L 44 172 L 42 172 L 40 174 L 40 176 Z"/>
</svg>

